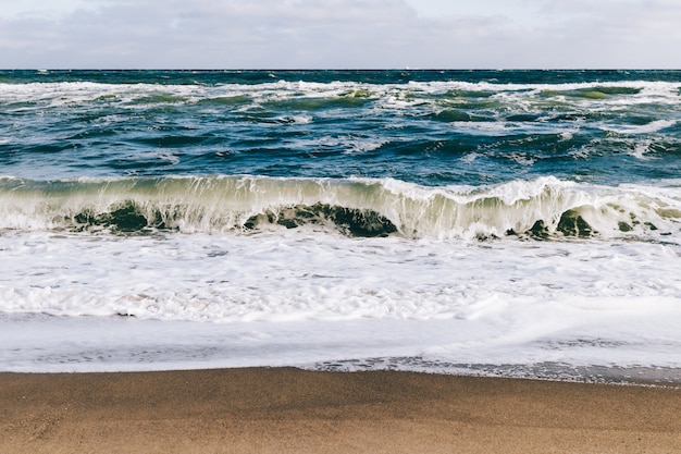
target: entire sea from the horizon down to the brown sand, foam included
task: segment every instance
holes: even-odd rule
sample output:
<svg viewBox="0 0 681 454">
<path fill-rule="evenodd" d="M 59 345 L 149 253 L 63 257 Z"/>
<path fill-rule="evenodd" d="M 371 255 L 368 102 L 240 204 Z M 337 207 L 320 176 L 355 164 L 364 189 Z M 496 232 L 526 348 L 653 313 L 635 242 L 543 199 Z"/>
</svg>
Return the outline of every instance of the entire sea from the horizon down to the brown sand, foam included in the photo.
<svg viewBox="0 0 681 454">
<path fill-rule="evenodd" d="M 681 382 L 680 71 L 0 71 L 0 370 Z"/>
</svg>

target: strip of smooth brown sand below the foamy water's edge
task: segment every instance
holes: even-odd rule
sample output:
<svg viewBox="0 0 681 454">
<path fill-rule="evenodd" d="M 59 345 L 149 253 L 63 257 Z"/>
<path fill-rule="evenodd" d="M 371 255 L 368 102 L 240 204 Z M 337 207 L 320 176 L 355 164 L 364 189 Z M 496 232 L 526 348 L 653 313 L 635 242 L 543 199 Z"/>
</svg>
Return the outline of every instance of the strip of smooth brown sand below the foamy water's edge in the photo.
<svg viewBox="0 0 681 454">
<path fill-rule="evenodd" d="M 297 369 L 0 373 L 0 453 L 681 453 L 681 390 Z"/>
</svg>

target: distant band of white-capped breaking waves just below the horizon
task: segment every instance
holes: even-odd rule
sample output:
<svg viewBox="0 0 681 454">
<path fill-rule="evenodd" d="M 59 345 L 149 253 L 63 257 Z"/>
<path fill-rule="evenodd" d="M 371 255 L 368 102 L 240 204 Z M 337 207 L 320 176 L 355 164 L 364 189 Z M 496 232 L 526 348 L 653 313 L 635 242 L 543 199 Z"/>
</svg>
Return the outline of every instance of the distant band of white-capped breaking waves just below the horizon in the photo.
<svg viewBox="0 0 681 454">
<path fill-rule="evenodd" d="M 154 105 L 199 105 L 203 107 L 260 106 L 277 108 L 325 109 L 355 108 L 381 101 L 386 107 L 421 106 L 436 101 L 439 107 L 472 107 L 509 101 L 608 103 L 636 99 L 639 103 L 677 105 L 681 83 L 649 81 L 581 83 L 491 83 L 467 81 L 429 81 L 399 84 L 364 82 L 268 82 L 257 85 L 216 83 L 210 85 L 164 85 L 159 83 L 115 84 L 101 82 L 0 82 L 0 105 L 10 108 L 57 107 L 74 105 L 115 105 L 136 108 Z"/>
</svg>

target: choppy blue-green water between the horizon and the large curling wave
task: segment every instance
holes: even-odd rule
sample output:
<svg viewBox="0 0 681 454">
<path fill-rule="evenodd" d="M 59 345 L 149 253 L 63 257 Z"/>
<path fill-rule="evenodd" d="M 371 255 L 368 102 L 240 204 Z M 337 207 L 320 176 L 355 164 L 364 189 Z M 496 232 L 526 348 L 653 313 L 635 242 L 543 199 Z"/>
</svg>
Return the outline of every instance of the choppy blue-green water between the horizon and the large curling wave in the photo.
<svg viewBox="0 0 681 454">
<path fill-rule="evenodd" d="M 5 175 L 679 175 L 681 72 L 4 71 Z"/>
</svg>

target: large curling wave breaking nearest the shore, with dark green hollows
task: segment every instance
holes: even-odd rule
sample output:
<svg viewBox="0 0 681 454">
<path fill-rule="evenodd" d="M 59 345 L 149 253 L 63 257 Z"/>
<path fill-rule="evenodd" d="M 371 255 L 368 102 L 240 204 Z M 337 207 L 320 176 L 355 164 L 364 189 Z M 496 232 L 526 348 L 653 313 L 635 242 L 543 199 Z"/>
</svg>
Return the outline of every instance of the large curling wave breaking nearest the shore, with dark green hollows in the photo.
<svg viewBox="0 0 681 454">
<path fill-rule="evenodd" d="M 681 188 L 541 177 L 428 187 L 384 179 L 0 179 L 0 229 L 111 233 L 313 228 L 348 236 L 659 238 L 679 235 Z"/>
</svg>

